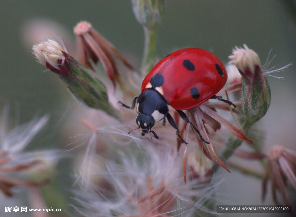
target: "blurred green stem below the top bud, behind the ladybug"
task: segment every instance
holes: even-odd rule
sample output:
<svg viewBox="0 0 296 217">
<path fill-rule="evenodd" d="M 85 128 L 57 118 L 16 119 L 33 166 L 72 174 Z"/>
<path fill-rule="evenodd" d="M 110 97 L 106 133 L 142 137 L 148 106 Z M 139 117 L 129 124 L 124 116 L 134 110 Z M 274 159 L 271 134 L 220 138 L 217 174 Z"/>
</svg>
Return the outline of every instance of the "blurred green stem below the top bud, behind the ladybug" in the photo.
<svg viewBox="0 0 296 217">
<path fill-rule="evenodd" d="M 142 60 L 141 72 L 142 76 L 145 77 L 147 73 L 152 69 L 155 63 L 156 55 L 156 32 L 154 29 L 149 29 L 145 26 L 144 28 L 144 54 Z"/>
</svg>

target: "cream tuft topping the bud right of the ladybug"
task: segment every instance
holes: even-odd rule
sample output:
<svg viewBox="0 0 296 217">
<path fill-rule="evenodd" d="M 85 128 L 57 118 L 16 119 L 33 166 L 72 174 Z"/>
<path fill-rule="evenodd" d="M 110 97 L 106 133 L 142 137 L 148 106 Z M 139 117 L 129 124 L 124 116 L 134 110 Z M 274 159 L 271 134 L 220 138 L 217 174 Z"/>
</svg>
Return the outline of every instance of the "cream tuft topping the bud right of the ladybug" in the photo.
<svg viewBox="0 0 296 217">
<path fill-rule="evenodd" d="M 229 64 L 235 65 L 239 70 L 245 71 L 246 68 L 254 73 L 256 65 L 260 66 L 260 59 L 258 54 L 249 49 L 246 44 L 243 45 L 244 48 L 237 47 L 232 50 L 232 55 L 228 58 L 230 59 Z"/>
</svg>

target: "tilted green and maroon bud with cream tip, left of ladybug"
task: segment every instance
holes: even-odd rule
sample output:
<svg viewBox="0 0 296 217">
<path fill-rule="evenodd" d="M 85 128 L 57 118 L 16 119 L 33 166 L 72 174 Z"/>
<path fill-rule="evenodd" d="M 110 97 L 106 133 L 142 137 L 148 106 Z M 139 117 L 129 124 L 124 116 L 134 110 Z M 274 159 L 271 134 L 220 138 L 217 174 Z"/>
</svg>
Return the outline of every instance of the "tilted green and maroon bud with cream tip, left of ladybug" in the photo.
<svg viewBox="0 0 296 217">
<path fill-rule="evenodd" d="M 79 101 L 114 115 L 108 102 L 106 86 L 98 78 L 89 75 L 87 69 L 67 54 L 60 44 L 47 40 L 34 45 L 32 49 L 38 62 L 56 73 Z"/>
</svg>

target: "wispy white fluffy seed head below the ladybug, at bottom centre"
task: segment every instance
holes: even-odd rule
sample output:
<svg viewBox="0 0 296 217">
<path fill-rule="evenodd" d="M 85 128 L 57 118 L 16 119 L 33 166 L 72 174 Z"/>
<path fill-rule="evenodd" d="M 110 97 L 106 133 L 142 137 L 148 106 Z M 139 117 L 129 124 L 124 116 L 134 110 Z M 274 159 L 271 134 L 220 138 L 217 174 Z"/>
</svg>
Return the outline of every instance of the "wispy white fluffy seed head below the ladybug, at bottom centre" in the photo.
<svg viewBox="0 0 296 217">
<path fill-rule="evenodd" d="M 139 142 L 148 146 L 148 141 Z M 77 192 L 77 201 L 82 207 L 76 208 L 79 213 L 87 217 L 111 217 L 114 213 L 120 213 L 120 216 L 173 216 L 177 211 L 184 212 L 182 216 L 193 216 L 199 209 L 205 210 L 201 201 L 213 197 L 217 184 L 205 187 L 198 179 L 193 179 L 185 185 L 182 155 L 159 146 L 139 149 L 138 145 L 125 146 L 124 149 L 118 146 L 112 153 L 114 159 L 105 160 L 107 170 L 96 171 L 109 183 L 108 189 L 98 194 L 81 186 L 82 191 Z M 145 159 L 139 158 L 139 154 Z M 112 200 L 109 200 L 110 196 Z"/>
</svg>

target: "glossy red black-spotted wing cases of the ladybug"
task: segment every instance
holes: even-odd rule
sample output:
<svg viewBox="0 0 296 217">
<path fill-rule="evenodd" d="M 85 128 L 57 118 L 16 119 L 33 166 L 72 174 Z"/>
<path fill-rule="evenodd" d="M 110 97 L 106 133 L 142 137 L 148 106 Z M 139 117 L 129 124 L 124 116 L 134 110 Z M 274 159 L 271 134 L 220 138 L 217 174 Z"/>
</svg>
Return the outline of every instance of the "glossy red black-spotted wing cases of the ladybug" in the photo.
<svg viewBox="0 0 296 217">
<path fill-rule="evenodd" d="M 163 84 L 152 88 L 152 76 Z M 161 75 L 161 76 L 160 76 Z M 158 82 L 153 80 L 153 82 Z M 213 97 L 227 80 L 223 63 L 211 52 L 199 48 L 175 51 L 160 60 L 144 78 L 142 92 L 156 89 L 176 110 L 187 110 Z M 162 81 L 160 81 L 162 83 Z"/>
</svg>

